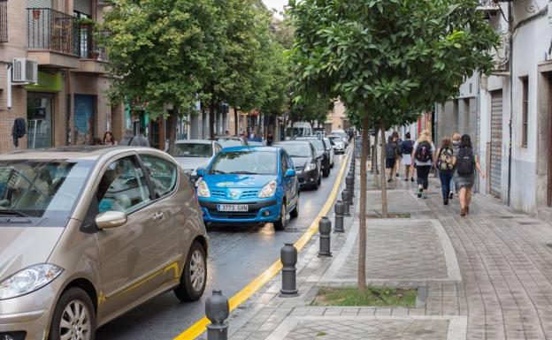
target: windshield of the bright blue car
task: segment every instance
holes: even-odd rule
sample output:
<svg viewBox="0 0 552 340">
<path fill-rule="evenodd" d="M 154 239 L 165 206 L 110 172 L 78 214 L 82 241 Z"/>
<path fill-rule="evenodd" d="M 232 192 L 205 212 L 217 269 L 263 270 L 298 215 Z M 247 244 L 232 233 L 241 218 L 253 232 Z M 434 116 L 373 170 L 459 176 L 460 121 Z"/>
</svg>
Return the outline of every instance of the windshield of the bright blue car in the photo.
<svg viewBox="0 0 552 340">
<path fill-rule="evenodd" d="M 276 153 L 236 151 L 220 153 L 211 166 L 210 174 L 275 175 Z"/>
</svg>

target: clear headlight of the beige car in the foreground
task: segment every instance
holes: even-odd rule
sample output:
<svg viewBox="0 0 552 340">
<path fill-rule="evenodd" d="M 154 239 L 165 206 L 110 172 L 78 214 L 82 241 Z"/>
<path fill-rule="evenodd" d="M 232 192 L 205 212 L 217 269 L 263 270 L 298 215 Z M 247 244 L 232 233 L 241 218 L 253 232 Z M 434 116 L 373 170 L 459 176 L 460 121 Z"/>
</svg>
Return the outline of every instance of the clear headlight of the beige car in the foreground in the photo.
<svg viewBox="0 0 552 340">
<path fill-rule="evenodd" d="M 0 300 L 18 298 L 37 291 L 54 281 L 63 271 L 63 268 L 49 263 L 25 268 L 0 283 Z"/>
</svg>

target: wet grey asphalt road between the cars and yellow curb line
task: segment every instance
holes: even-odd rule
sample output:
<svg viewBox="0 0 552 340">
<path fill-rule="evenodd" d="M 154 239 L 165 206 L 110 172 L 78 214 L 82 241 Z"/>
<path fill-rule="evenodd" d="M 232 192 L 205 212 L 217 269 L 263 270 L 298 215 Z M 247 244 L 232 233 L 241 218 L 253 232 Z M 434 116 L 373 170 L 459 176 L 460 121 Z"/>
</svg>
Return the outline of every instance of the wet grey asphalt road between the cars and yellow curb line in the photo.
<svg viewBox="0 0 552 340">
<path fill-rule="evenodd" d="M 299 217 L 289 220 L 285 231 L 271 225 L 261 228 L 211 228 L 207 288 L 195 303 L 180 303 L 172 291 L 152 299 L 98 329 L 96 340 L 171 340 L 204 315 L 204 298 L 213 289 L 232 297 L 270 267 L 285 242 L 295 242 L 309 228 L 332 191 L 343 155 L 336 155 L 330 177 L 318 191 L 301 193 Z"/>
</svg>

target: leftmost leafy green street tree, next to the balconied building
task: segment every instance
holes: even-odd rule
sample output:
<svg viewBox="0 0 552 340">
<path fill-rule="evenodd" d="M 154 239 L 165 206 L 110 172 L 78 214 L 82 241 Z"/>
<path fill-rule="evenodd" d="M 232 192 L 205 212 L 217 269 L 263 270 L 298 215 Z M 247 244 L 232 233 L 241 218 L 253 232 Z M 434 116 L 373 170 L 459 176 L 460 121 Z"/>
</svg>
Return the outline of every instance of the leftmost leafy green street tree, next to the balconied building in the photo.
<svg viewBox="0 0 552 340">
<path fill-rule="evenodd" d="M 169 147 L 176 121 L 196 105 L 205 74 L 215 57 L 211 37 L 222 13 L 212 0 L 118 0 L 106 12 L 108 69 L 116 102 L 148 102 L 153 116 L 168 114 Z"/>
</svg>

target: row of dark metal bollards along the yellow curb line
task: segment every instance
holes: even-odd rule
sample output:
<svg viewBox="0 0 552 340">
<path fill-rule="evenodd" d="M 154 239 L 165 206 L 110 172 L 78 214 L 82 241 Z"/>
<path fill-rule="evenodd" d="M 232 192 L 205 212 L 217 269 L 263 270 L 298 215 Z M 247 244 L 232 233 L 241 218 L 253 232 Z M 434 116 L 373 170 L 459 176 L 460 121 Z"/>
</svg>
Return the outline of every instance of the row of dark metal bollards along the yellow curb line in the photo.
<svg viewBox="0 0 552 340">
<path fill-rule="evenodd" d="M 341 200 L 337 200 L 334 205 L 335 225 L 334 232 L 345 232 L 343 228 L 344 217 L 350 216 L 350 206 L 353 205 L 355 192 L 355 153 L 351 157 L 349 174 L 345 178 L 345 189 L 341 192 Z M 318 232 L 320 233 L 320 247 L 318 256 L 331 257 L 331 233 L 332 222 L 326 216 L 318 222 Z M 298 296 L 296 286 L 297 268 L 297 248 L 292 243 L 286 243 L 280 250 L 280 261 L 282 264 L 282 282 L 280 297 L 291 298 Z M 205 300 L 205 315 L 211 321 L 207 325 L 207 340 L 227 340 L 228 324 L 226 319 L 230 314 L 228 298 L 222 291 L 212 291 L 209 298 Z"/>
</svg>

